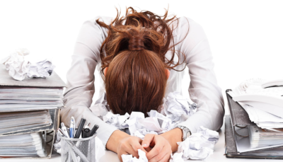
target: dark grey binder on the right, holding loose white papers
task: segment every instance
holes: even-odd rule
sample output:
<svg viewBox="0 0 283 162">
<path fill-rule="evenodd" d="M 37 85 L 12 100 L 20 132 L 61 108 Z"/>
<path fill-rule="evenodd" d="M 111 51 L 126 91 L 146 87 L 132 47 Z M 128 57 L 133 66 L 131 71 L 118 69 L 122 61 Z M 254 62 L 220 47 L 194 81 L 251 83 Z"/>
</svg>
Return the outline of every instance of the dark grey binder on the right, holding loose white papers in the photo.
<svg viewBox="0 0 283 162">
<path fill-rule="evenodd" d="M 249 141 L 249 134 L 243 129 L 247 129 L 250 122 L 248 113 L 241 105 L 232 100 L 226 90 L 226 97 L 229 105 L 230 115 L 225 116 L 225 154 L 226 158 L 264 158 L 264 159 L 283 159 L 283 146 L 274 146 L 266 149 L 251 150 L 239 152 L 237 146 L 238 141 Z M 245 133 L 243 133 L 245 132 Z M 247 142 L 246 142 L 247 143 Z"/>
</svg>

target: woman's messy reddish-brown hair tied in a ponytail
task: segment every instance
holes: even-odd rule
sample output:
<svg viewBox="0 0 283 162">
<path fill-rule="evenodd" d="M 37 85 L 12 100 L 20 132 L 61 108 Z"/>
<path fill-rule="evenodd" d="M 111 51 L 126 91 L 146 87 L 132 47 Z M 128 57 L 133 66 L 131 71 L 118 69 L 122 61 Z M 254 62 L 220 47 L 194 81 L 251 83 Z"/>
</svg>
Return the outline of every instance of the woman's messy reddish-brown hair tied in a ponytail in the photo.
<svg viewBox="0 0 283 162">
<path fill-rule="evenodd" d="M 158 110 L 162 105 L 166 69 L 183 64 L 178 54 L 178 62 L 173 62 L 176 45 L 173 21 L 178 21 L 178 18 L 167 18 L 168 11 L 164 16 L 157 16 L 150 11 L 137 12 L 129 7 L 121 18 L 117 11 L 110 25 L 96 20 L 101 27 L 108 29 L 108 37 L 100 49 L 100 74 L 113 113 L 124 115 L 125 112 L 139 111 L 147 115 L 146 112 Z M 168 50 L 173 52 L 170 59 L 165 57 Z M 104 76 L 106 67 L 108 71 Z"/>
</svg>

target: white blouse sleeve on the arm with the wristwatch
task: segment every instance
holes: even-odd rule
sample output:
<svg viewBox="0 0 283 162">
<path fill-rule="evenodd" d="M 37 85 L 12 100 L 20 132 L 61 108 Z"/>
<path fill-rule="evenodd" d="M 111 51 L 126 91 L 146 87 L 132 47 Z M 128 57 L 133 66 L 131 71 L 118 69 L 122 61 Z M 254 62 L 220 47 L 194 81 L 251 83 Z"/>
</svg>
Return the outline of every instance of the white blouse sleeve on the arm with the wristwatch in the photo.
<svg viewBox="0 0 283 162">
<path fill-rule="evenodd" d="M 191 100 L 197 103 L 197 112 L 179 125 L 191 132 L 196 132 L 200 126 L 218 130 L 223 124 L 224 100 L 214 74 L 209 42 L 201 25 L 190 18 L 180 18 L 180 40 L 184 37 L 180 33 L 187 33 L 187 30 L 187 37 L 178 47 L 186 55 L 185 63 L 190 74 L 189 93 Z"/>
</svg>

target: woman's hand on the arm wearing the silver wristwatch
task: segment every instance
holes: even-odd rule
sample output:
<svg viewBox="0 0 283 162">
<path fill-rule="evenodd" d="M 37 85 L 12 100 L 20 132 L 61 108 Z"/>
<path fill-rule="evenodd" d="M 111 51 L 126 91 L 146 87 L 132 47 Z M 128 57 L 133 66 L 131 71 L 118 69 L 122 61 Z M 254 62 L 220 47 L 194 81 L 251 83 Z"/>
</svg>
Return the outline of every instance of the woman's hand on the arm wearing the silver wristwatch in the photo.
<svg viewBox="0 0 283 162">
<path fill-rule="evenodd" d="M 162 137 L 156 134 L 146 134 L 144 141 L 142 141 L 142 146 L 149 151 L 149 146 L 154 147 L 148 153 L 146 157 L 149 162 L 167 162 L 172 154 L 172 149 L 170 143 Z"/>
</svg>

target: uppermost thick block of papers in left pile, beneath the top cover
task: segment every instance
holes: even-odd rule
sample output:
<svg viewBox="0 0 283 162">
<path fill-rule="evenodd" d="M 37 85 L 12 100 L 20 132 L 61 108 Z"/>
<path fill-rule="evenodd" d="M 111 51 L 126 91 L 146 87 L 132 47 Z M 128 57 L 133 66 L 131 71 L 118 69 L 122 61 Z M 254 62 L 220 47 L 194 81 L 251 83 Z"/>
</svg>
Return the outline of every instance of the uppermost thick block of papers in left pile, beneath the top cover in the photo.
<svg viewBox="0 0 283 162">
<path fill-rule="evenodd" d="M 63 88 L 0 86 L 0 111 L 47 110 L 63 106 Z"/>
</svg>

